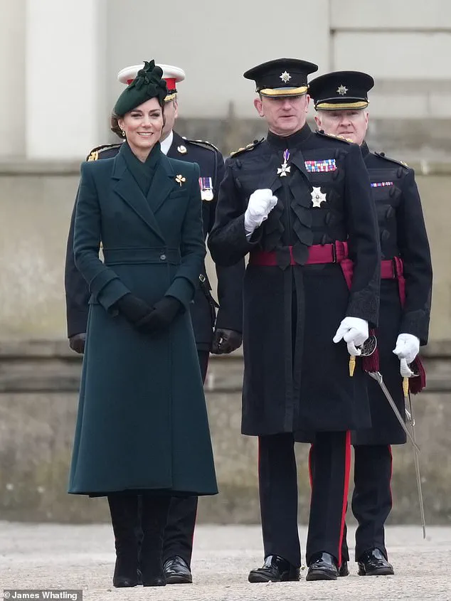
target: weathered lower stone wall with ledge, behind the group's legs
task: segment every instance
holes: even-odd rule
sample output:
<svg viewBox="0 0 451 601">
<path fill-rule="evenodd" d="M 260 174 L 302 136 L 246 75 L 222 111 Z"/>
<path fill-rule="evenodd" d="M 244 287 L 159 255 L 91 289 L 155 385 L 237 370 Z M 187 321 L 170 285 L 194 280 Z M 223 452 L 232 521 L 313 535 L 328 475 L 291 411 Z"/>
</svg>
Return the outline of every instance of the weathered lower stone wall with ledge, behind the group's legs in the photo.
<svg viewBox="0 0 451 601">
<path fill-rule="evenodd" d="M 451 345 L 425 351 L 428 389 L 414 398 L 428 523 L 451 518 Z M 0 519 L 95 522 L 104 499 L 66 493 L 75 427 L 80 357 L 65 341 L 0 342 Z M 212 357 L 206 396 L 221 493 L 201 499 L 199 520 L 259 521 L 257 441 L 240 435 L 243 361 Z M 309 506 L 307 445 L 297 445 L 299 518 Z M 393 523 L 419 519 L 413 454 L 393 448 Z"/>
</svg>

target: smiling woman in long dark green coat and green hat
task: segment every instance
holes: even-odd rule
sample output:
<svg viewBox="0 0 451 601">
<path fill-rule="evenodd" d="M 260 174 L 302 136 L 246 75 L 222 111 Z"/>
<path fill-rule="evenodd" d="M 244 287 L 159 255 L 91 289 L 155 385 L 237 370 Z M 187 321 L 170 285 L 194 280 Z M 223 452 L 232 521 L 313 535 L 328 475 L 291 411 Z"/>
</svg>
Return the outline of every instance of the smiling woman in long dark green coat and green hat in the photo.
<svg viewBox="0 0 451 601">
<path fill-rule="evenodd" d="M 188 311 L 206 252 L 199 170 L 160 151 L 161 75 L 146 63 L 120 95 L 126 142 L 82 165 L 75 215 L 91 298 L 69 492 L 108 497 L 116 586 L 137 584 L 139 499 L 139 567 L 155 586 L 170 496 L 218 491 Z"/>
</svg>

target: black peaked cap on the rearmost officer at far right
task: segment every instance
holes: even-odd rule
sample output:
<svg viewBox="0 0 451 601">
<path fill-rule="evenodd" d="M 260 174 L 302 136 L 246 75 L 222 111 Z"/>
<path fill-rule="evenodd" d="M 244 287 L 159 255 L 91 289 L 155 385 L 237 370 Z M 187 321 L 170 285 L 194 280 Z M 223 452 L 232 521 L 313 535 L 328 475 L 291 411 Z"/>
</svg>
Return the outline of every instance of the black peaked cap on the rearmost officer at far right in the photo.
<svg viewBox="0 0 451 601">
<path fill-rule="evenodd" d="M 309 83 L 309 95 L 316 110 L 366 109 L 371 75 L 361 71 L 334 71 Z"/>
</svg>

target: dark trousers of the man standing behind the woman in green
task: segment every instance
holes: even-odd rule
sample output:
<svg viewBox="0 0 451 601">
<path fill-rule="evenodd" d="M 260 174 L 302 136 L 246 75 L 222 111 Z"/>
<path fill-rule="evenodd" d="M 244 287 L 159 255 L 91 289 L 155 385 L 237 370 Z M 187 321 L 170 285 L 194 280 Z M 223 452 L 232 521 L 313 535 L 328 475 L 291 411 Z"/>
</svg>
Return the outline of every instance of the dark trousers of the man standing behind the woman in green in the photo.
<svg viewBox="0 0 451 601">
<path fill-rule="evenodd" d="M 205 382 L 210 353 L 198 349 L 197 354 L 201 366 L 202 381 Z M 186 561 L 187 565 L 191 565 L 197 501 L 197 496 L 171 497 L 168 520 L 164 531 L 163 563 L 166 559 L 179 555 Z"/>
</svg>

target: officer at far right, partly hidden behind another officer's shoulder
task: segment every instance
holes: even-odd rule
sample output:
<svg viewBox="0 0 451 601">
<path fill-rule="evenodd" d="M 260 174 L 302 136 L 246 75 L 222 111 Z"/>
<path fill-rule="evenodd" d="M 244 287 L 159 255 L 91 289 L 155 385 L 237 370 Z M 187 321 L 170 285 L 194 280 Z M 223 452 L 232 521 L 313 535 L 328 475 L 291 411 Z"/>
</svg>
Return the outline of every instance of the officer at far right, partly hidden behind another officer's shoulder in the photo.
<svg viewBox="0 0 451 601">
<path fill-rule="evenodd" d="M 432 266 L 428 235 L 413 169 L 373 153 L 365 142 L 368 91 L 366 73 L 339 71 L 310 82 L 319 129 L 359 144 L 371 181 L 381 239 L 381 307 L 377 330 L 384 381 L 405 416 L 400 361 L 413 363 L 428 342 Z M 416 378 L 410 380 L 410 383 Z M 356 561 L 360 575 L 393 574 L 384 541 L 384 523 L 391 511 L 391 445 L 405 443 L 405 433 L 381 388 L 368 378 L 371 428 L 353 432 L 355 467 L 352 511 Z M 343 555 L 348 551 L 344 537 Z"/>
</svg>

